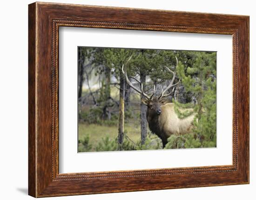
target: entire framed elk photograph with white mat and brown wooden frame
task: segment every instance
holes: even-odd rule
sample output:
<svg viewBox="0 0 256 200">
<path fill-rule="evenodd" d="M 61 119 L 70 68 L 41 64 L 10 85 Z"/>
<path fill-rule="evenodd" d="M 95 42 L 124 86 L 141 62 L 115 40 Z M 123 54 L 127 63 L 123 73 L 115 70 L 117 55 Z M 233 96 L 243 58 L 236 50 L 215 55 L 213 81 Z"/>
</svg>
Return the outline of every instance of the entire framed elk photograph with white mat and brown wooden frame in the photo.
<svg viewBox="0 0 256 200">
<path fill-rule="evenodd" d="M 249 16 L 28 14 L 29 195 L 249 183 Z"/>
</svg>

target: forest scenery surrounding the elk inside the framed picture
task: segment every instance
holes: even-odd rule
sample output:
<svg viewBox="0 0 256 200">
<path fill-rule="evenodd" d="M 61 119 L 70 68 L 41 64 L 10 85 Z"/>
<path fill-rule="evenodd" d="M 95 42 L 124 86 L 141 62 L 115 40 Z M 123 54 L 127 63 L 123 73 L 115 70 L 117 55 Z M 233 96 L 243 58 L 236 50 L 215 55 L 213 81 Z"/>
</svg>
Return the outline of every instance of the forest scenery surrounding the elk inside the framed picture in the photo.
<svg viewBox="0 0 256 200">
<path fill-rule="evenodd" d="M 159 95 L 172 79 L 167 66 L 181 79 L 168 97 L 176 115 L 191 114 L 183 108 L 196 113 L 192 133 L 170 136 L 165 148 L 216 147 L 216 52 L 78 47 L 78 151 L 162 149 L 148 129 L 147 106 L 121 73 L 131 55 L 127 72 L 134 85 L 152 93 L 155 84 Z"/>
</svg>

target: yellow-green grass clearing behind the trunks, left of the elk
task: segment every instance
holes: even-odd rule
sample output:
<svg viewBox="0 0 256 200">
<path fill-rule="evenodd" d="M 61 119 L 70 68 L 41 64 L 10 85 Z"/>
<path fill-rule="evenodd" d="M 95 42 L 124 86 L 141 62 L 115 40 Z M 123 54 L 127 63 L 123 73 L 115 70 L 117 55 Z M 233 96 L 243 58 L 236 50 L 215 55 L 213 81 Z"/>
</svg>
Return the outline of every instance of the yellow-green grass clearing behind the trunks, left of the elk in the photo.
<svg viewBox="0 0 256 200">
<path fill-rule="evenodd" d="M 141 139 L 141 128 L 134 124 L 125 124 L 124 129 L 127 132 L 127 136 L 133 141 L 138 142 Z M 109 136 L 110 139 L 115 140 L 118 135 L 117 126 L 107 126 L 98 124 L 78 124 L 78 139 L 83 140 L 86 135 L 89 135 L 89 143 L 92 145 L 91 151 L 95 151 L 95 147 L 101 138 Z"/>
</svg>

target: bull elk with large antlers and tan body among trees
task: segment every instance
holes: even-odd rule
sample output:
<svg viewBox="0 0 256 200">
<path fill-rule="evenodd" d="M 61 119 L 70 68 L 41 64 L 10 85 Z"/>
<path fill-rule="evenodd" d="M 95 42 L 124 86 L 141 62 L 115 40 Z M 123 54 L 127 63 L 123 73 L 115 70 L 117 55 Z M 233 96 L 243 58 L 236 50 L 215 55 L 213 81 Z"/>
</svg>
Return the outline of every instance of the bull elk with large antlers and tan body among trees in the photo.
<svg viewBox="0 0 256 200">
<path fill-rule="evenodd" d="M 128 61 L 130 58 L 128 59 Z M 178 65 L 178 59 L 176 58 L 176 66 Z M 135 91 L 140 93 L 143 97 L 141 99 L 141 103 L 147 105 L 147 121 L 149 129 L 158 135 L 162 140 L 163 148 L 167 144 L 167 139 L 171 135 L 183 135 L 191 132 L 193 128 L 193 121 L 195 114 L 192 114 L 184 119 L 180 119 L 174 110 L 174 103 L 168 103 L 168 99 L 166 97 L 170 96 L 175 89 L 175 85 L 177 85 L 180 80 L 174 84 L 175 81 L 175 72 L 171 71 L 168 67 L 164 67 L 168 72 L 173 74 L 172 80 L 168 87 L 162 89 L 161 95 L 159 97 L 155 97 L 155 85 L 153 94 L 148 96 L 143 91 L 143 84 L 141 84 L 141 88 L 136 88 L 129 80 L 127 76 L 127 65 L 122 66 L 122 73 L 126 78 L 127 84 L 133 88 Z M 173 88 L 171 92 L 165 94 L 169 89 Z M 191 109 L 183 109 L 183 111 Z"/>
</svg>

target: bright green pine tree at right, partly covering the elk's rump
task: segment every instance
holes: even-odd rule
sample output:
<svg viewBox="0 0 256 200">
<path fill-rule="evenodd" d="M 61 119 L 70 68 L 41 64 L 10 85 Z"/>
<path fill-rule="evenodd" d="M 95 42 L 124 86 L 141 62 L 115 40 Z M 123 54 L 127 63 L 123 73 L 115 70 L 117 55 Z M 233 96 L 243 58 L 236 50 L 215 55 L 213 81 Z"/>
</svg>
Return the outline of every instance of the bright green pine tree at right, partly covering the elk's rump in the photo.
<svg viewBox="0 0 256 200">
<path fill-rule="evenodd" d="M 195 139 L 199 139 L 201 147 L 216 147 L 216 52 L 196 52 L 193 65 L 185 66 L 180 61 L 176 70 L 195 103 Z M 178 112 L 181 105 L 175 106 Z"/>
</svg>

